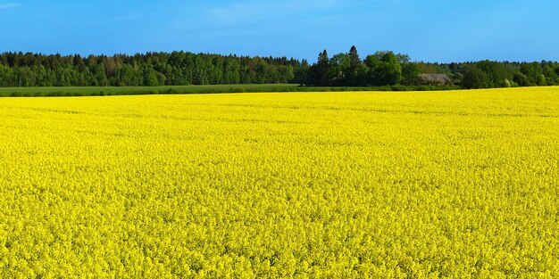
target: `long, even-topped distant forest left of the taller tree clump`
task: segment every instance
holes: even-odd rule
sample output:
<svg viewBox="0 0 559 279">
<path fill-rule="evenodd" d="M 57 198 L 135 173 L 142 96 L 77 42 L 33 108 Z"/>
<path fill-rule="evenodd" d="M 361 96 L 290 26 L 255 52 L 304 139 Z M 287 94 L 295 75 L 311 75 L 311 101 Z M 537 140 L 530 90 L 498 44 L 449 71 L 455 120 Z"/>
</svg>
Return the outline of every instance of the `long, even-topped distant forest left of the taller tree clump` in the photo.
<svg viewBox="0 0 559 279">
<path fill-rule="evenodd" d="M 308 64 L 307 64 L 308 65 Z M 204 53 L 0 54 L 0 87 L 188 86 L 295 82 L 295 59 Z"/>
</svg>

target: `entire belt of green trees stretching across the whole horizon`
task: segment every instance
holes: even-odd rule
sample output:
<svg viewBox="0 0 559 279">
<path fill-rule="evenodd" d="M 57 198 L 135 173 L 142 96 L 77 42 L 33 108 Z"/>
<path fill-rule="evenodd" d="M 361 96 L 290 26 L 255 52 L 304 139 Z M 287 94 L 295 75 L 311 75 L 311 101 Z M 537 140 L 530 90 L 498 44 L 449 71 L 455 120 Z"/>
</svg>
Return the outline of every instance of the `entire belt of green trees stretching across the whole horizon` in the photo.
<svg viewBox="0 0 559 279">
<path fill-rule="evenodd" d="M 430 74 L 444 74 L 441 84 Z M 317 62 L 287 57 L 211 53 L 136 53 L 80 56 L 1 53 L 0 86 L 189 86 L 299 84 L 302 86 L 458 86 L 494 88 L 559 85 L 558 62 L 413 62 L 409 55 L 380 51 L 362 59 L 348 53 Z M 454 88 L 454 87 L 452 87 Z"/>
</svg>

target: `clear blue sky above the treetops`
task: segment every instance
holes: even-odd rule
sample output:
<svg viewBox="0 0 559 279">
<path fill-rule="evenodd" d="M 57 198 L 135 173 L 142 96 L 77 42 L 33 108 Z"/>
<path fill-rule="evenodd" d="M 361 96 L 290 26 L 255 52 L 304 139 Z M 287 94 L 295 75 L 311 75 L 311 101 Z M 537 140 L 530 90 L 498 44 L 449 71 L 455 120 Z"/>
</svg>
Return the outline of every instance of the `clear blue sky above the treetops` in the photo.
<svg viewBox="0 0 559 279">
<path fill-rule="evenodd" d="M 0 0 L 0 52 L 288 56 L 392 50 L 414 61 L 559 61 L 559 2 Z"/>
</svg>

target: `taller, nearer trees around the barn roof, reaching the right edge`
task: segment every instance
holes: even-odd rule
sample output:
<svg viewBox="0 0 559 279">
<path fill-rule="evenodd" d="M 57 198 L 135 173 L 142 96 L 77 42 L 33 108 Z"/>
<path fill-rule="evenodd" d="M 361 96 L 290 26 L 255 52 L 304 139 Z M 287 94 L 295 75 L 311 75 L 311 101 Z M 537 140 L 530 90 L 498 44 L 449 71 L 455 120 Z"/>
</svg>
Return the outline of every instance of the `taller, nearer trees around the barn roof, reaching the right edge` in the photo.
<svg viewBox="0 0 559 279">
<path fill-rule="evenodd" d="M 425 74 L 446 74 L 463 88 L 559 85 L 558 62 L 411 62 L 407 54 L 377 52 L 359 58 L 355 46 L 329 58 L 326 50 L 302 82 L 315 86 L 432 85 Z"/>
</svg>

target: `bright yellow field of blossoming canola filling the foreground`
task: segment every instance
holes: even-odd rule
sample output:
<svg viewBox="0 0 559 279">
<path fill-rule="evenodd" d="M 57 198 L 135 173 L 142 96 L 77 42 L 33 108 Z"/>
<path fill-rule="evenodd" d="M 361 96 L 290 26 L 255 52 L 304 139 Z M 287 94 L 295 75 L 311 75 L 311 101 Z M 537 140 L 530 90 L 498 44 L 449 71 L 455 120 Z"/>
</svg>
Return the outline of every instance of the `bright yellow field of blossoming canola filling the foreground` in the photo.
<svg viewBox="0 0 559 279">
<path fill-rule="evenodd" d="M 0 277 L 559 277 L 559 88 L 0 100 Z"/>
</svg>

